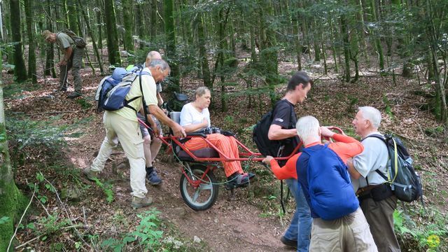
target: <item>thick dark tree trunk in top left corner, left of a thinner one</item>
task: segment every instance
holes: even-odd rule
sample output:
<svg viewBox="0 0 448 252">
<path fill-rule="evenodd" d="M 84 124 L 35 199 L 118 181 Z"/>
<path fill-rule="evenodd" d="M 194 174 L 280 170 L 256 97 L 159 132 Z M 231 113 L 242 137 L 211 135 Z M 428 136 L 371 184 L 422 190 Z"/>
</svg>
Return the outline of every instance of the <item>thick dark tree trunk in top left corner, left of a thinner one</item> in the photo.
<svg viewBox="0 0 448 252">
<path fill-rule="evenodd" d="M 12 38 L 14 43 L 14 76 L 18 82 L 27 80 L 27 69 L 22 51 L 22 34 L 20 33 L 20 3 L 19 0 L 10 0 L 10 18 L 15 20 L 10 22 Z"/>
</svg>

